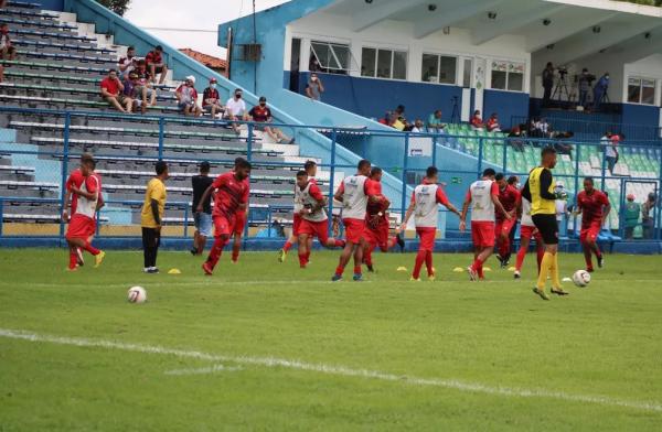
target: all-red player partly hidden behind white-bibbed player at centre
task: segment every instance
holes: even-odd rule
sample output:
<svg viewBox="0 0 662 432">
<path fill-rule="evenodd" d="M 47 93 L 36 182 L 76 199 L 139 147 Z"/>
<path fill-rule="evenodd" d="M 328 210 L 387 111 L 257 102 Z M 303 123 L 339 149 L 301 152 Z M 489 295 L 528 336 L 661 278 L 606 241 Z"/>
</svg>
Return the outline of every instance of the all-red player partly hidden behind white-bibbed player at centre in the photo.
<svg viewBox="0 0 662 432">
<path fill-rule="evenodd" d="M 376 247 L 380 247 L 382 252 L 387 252 L 388 249 L 399 245 L 401 251 L 405 248 L 405 241 L 402 239 L 399 233 L 393 237 L 388 237 L 389 224 L 388 224 L 388 206 L 391 203 L 384 195 L 382 195 L 382 169 L 373 166 L 370 172 L 370 180 L 376 182 L 376 194 L 383 197 L 383 201 L 375 203 L 367 203 L 366 215 L 365 215 L 365 241 L 367 244 L 365 250 L 363 250 L 363 262 L 367 267 L 367 271 L 374 271 L 372 252 Z"/>
</svg>

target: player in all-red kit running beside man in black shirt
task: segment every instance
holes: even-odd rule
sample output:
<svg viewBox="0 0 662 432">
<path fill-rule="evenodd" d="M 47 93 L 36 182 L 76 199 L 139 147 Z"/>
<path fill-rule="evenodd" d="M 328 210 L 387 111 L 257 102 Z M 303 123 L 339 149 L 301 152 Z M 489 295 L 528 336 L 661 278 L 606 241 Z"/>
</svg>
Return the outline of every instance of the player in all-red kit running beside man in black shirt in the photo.
<svg viewBox="0 0 662 432">
<path fill-rule="evenodd" d="M 214 210 L 212 212 L 214 245 L 206 261 L 202 264 L 202 270 L 207 276 L 214 273 L 214 268 L 221 259 L 223 248 L 229 242 L 229 237 L 234 233 L 237 210 L 246 210 L 250 192 L 248 183 L 245 182 L 248 175 L 250 175 L 250 163 L 245 159 L 235 161 L 235 170 L 218 175 L 200 198 L 202 204 L 212 192 L 216 191 Z M 202 205 L 199 205 L 196 210 L 203 212 Z"/>
</svg>

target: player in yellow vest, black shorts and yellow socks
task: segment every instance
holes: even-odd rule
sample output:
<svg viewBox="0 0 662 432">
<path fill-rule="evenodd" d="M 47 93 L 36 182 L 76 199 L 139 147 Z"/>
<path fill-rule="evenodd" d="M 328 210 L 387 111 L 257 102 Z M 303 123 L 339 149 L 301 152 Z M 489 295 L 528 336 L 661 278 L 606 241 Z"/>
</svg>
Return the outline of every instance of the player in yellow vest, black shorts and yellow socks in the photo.
<svg viewBox="0 0 662 432">
<path fill-rule="evenodd" d="M 556 222 L 556 199 L 563 195 L 554 193 L 552 170 L 556 166 L 556 150 L 546 147 L 541 153 L 541 165 L 528 173 L 528 180 L 522 196 L 531 202 L 531 218 L 545 245 L 545 253 L 541 261 L 538 280 L 533 292 L 543 300 L 549 300 L 545 293 L 547 276 L 552 278 L 552 293 L 567 295 L 558 279 L 558 223 Z"/>
</svg>

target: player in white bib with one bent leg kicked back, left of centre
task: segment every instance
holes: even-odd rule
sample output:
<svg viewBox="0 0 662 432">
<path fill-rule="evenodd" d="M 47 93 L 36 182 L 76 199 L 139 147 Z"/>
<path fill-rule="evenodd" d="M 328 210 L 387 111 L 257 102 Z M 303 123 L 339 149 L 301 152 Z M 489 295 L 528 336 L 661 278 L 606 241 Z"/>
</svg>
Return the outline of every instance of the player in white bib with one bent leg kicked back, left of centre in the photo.
<svg viewBox="0 0 662 432">
<path fill-rule="evenodd" d="M 329 218 L 324 212 L 327 199 L 317 183 L 308 180 L 306 171 L 297 173 L 298 199 L 302 205 L 299 210 L 301 225 L 299 226 L 299 266 L 305 269 L 310 259 L 310 244 L 317 237 L 320 245 L 327 248 L 343 248 L 345 242 L 329 238 Z"/>
</svg>

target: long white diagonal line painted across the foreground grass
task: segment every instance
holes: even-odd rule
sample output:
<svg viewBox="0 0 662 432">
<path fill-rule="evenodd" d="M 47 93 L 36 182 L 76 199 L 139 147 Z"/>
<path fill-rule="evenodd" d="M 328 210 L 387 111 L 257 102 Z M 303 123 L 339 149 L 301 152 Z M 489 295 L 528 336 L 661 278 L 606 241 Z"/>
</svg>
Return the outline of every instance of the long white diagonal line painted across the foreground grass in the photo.
<svg viewBox="0 0 662 432">
<path fill-rule="evenodd" d="M 36 343 L 51 343 L 57 345 L 70 345 L 78 347 L 90 347 L 90 348 L 105 348 L 105 349 L 120 349 L 135 353 L 145 354 L 160 354 L 169 355 L 181 358 L 194 358 L 197 360 L 209 360 L 214 363 L 234 363 L 239 365 L 254 365 L 263 367 L 282 367 L 295 370 L 306 370 L 312 372 L 320 372 L 327 375 L 334 375 L 341 377 L 359 377 L 365 379 L 375 379 L 381 381 L 393 381 L 403 382 L 410 386 L 421 387 L 439 387 L 459 391 L 483 393 L 483 395 L 495 395 L 514 398 L 547 398 L 557 399 L 570 402 L 586 402 L 596 403 L 601 406 L 610 407 L 622 407 L 637 409 L 642 411 L 654 411 L 662 412 L 662 404 L 656 402 L 648 401 L 633 401 L 633 400 L 621 400 L 609 398 L 605 396 L 591 396 L 591 395 L 576 395 L 568 393 L 565 391 L 545 390 L 545 389 L 525 389 L 514 387 L 494 387 L 479 382 L 466 382 L 457 379 L 439 379 L 439 378 L 420 378 L 405 375 L 394 375 L 382 372 L 377 370 L 369 369 L 352 369 L 344 366 L 333 366 L 324 364 L 311 364 L 300 360 L 288 360 L 282 358 L 274 357 L 248 357 L 248 356 L 227 356 L 227 355 L 215 355 L 209 353 L 202 353 L 196 350 L 184 350 L 166 348 L 160 346 L 139 345 L 139 344 L 125 344 L 120 342 L 103 341 L 103 339 L 87 339 L 77 337 L 61 337 L 52 335 L 40 335 L 35 333 L 29 333 L 24 331 L 0 328 L 0 337 L 11 339 L 22 339 Z"/>
</svg>

